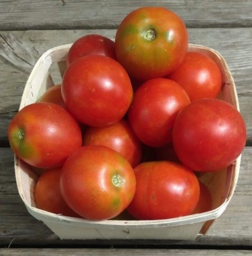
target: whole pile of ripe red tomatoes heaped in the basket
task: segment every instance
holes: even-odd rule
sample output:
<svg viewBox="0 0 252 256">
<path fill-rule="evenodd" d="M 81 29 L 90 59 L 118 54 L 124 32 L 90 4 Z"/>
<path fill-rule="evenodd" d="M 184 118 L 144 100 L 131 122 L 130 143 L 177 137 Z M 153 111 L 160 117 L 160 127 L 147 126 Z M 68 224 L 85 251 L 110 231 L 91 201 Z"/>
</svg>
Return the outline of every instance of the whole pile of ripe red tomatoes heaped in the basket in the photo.
<svg viewBox="0 0 252 256">
<path fill-rule="evenodd" d="M 188 51 L 188 31 L 161 7 L 130 12 L 115 42 L 85 35 L 69 49 L 62 84 L 20 110 L 11 148 L 43 169 L 38 208 L 88 220 L 159 220 L 211 210 L 196 173 L 241 154 L 246 127 L 217 99 L 220 67 Z"/>
</svg>

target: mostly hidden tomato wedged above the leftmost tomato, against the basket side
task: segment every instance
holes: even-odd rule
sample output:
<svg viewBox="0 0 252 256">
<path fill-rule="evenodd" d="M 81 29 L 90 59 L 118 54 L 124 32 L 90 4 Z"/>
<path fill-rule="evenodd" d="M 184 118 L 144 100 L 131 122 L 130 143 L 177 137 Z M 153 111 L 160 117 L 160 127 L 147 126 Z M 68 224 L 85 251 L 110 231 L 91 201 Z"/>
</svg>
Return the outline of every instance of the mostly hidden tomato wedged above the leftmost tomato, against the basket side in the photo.
<svg viewBox="0 0 252 256">
<path fill-rule="evenodd" d="M 61 94 L 61 85 L 54 85 L 50 87 L 46 92 L 39 98 L 38 102 L 51 102 L 66 108 L 64 100 Z"/>
</svg>

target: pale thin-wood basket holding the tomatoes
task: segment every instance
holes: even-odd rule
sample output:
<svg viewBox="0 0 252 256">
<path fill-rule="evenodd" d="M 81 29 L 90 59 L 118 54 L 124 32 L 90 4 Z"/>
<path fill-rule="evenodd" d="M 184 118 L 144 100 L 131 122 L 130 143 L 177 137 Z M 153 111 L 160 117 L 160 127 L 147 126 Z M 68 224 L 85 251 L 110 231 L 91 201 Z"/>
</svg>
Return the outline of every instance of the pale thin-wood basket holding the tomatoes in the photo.
<svg viewBox="0 0 252 256">
<path fill-rule="evenodd" d="M 71 44 L 49 49 L 34 66 L 22 95 L 20 109 L 36 102 L 41 94 L 54 85 L 50 68 L 56 64 L 59 76 L 66 70 L 66 56 Z M 223 86 L 218 98 L 231 103 L 239 110 L 234 80 L 229 68 L 220 55 L 211 48 L 189 44 L 189 51 L 207 54 L 221 68 Z M 55 72 L 55 71 L 54 71 Z M 200 176 L 211 191 L 213 210 L 168 220 L 136 221 L 107 220 L 89 221 L 83 218 L 66 217 L 36 208 L 34 188 L 38 174 L 28 164 L 15 156 L 15 173 L 18 192 L 29 213 L 41 220 L 60 239 L 178 239 L 193 240 L 197 235 L 206 234 L 209 226 L 225 211 L 234 193 L 239 175 L 240 159 L 226 170 L 205 173 Z"/>
</svg>

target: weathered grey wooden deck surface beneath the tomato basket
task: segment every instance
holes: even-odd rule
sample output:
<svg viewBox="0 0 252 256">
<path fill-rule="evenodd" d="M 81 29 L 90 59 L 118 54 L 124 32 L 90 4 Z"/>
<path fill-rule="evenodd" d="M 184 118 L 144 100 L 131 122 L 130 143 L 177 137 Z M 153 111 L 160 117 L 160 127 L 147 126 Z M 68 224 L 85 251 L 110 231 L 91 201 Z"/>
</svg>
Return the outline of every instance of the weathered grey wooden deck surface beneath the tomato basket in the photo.
<svg viewBox="0 0 252 256">
<path fill-rule="evenodd" d="M 60 240 L 26 210 L 18 195 L 8 124 L 35 62 L 49 48 L 85 34 L 114 38 L 128 12 L 163 6 L 180 15 L 189 42 L 216 49 L 234 77 L 248 138 L 226 211 L 194 241 Z M 252 254 L 252 1 L 0 0 L 0 255 Z M 55 83 L 58 77 L 53 77 Z M 150 249 L 151 248 L 151 249 Z"/>
</svg>

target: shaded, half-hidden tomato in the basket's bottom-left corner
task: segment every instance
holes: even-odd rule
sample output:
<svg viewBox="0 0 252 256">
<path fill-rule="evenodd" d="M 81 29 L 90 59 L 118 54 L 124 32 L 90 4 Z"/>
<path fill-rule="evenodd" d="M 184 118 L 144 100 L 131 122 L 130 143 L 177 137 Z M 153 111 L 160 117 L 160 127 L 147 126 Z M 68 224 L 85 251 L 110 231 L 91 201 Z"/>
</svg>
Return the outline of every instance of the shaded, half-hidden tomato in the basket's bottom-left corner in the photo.
<svg viewBox="0 0 252 256">
<path fill-rule="evenodd" d="M 35 202 L 39 209 L 64 216 L 79 217 L 64 201 L 60 192 L 61 168 L 45 170 L 35 186 Z"/>
</svg>

